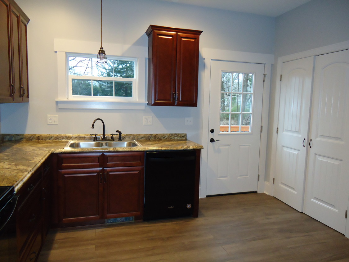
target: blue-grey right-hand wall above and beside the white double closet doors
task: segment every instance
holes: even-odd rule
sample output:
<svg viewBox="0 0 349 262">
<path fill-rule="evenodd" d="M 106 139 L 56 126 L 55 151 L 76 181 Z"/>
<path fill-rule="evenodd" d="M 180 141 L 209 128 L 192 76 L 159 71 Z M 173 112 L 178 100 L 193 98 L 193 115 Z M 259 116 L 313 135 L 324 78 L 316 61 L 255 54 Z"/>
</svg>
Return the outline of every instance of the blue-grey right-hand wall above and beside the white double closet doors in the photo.
<svg viewBox="0 0 349 262">
<path fill-rule="evenodd" d="M 312 0 L 276 17 L 275 63 L 269 106 L 269 127 L 274 121 L 277 59 L 322 46 L 349 40 L 349 0 Z M 277 115 L 275 116 L 277 117 Z M 267 172 L 269 181 L 272 133 L 269 128 Z"/>
</svg>

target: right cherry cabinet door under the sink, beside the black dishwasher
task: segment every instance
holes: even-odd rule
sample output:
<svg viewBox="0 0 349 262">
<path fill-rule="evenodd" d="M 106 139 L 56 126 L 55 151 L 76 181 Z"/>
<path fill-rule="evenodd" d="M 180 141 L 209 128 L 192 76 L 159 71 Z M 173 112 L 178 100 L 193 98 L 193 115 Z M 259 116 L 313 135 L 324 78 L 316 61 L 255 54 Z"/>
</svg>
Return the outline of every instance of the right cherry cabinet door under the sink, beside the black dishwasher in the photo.
<svg viewBox="0 0 349 262">
<path fill-rule="evenodd" d="M 141 216 L 143 213 L 144 168 L 120 167 L 105 170 L 105 218 Z"/>
</svg>

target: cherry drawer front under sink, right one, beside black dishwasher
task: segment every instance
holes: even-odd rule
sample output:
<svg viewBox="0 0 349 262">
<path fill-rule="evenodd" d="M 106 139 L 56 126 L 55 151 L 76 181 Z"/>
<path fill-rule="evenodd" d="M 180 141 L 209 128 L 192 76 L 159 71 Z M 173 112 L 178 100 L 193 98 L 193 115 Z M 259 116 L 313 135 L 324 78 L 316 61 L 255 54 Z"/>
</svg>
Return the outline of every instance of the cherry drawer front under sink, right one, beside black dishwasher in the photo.
<svg viewBox="0 0 349 262">
<path fill-rule="evenodd" d="M 105 167 L 144 166 L 144 152 L 104 153 Z"/>
</svg>

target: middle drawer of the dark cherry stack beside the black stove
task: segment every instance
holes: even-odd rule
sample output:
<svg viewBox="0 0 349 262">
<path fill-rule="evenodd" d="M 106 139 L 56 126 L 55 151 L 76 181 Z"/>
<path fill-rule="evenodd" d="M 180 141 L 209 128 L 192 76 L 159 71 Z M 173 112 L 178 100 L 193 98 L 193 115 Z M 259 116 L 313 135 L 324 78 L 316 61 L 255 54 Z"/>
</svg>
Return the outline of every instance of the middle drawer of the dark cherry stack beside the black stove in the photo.
<svg viewBox="0 0 349 262">
<path fill-rule="evenodd" d="M 41 190 L 37 188 L 17 211 L 17 244 L 20 253 L 37 228 L 42 217 Z"/>
</svg>

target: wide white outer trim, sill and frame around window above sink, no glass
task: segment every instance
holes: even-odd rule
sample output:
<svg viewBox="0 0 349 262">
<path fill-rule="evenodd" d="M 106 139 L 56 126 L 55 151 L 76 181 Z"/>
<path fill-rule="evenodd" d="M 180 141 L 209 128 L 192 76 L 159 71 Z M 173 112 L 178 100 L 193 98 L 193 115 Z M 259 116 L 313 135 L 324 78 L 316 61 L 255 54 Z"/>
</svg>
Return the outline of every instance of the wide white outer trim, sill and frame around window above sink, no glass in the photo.
<svg viewBox="0 0 349 262">
<path fill-rule="evenodd" d="M 135 69 L 136 88 L 131 97 L 103 97 L 103 99 L 91 100 L 90 97 L 77 98 L 69 96 L 67 53 L 70 54 L 94 54 L 98 42 L 74 41 L 66 39 L 54 39 L 54 51 L 57 54 L 57 85 L 58 97 L 55 99 L 58 108 L 65 109 L 135 109 L 144 110 L 147 97 L 147 64 L 148 48 L 147 46 L 120 45 L 103 43 L 104 49 L 110 57 L 127 57 L 137 59 L 137 70 Z M 115 78 L 113 79 L 115 80 Z M 129 79 L 127 80 L 129 81 Z M 96 97 L 96 96 L 95 96 Z M 117 98 L 117 99 L 115 99 Z"/>
</svg>

